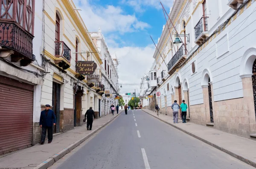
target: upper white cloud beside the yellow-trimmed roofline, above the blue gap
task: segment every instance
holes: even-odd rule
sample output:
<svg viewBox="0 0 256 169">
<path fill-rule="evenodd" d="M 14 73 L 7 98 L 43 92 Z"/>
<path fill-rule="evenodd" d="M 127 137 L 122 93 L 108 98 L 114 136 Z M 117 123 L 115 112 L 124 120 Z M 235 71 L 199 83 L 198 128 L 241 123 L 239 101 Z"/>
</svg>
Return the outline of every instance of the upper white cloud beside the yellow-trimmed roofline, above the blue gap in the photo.
<svg viewBox="0 0 256 169">
<path fill-rule="evenodd" d="M 150 27 L 148 23 L 139 21 L 135 14 L 125 14 L 125 12 L 116 6 L 93 6 L 88 0 L 74 0 L 77 8 L 89 31 L 97 31 L 99 26 L 105 33 L 134 32 Z"/>
</svg>

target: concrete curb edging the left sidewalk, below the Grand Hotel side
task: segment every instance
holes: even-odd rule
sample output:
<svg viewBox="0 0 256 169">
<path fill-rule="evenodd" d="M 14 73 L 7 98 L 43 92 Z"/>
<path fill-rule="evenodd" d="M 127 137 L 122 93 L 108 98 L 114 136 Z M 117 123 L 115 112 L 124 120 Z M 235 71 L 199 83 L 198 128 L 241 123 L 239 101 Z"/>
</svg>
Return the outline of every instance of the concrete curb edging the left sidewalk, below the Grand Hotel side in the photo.
<svg viewBox="0 0 256 169">
<path fill-rule="evenodd" d="M 75 143 L 70 144 L 66 148 L 62 149 L 60 152 L 56 153 L 55 155 L 52 155 L 52 157 L 48 158 L 47 160 L 44 160 L 44 162 L 40 163 L 38 166 L 36 166 L 34 169 L 47 169 L 48 167 L 52 166 L 53 163 L 58 161 L 60 158 L 62 158 L 67 153 L 71 152 L 73 149 L 75 149 L 77 146 L 79 146 L 81 143 L 83 143 L 85 140 L 87 140 L 89 137 L 94 135 L 96 132 L 98 132 L 100 129 L 105 127 L 108 123 L 113 121 L 116 117 L 118 117 L 123 111 L 120 111 L 118 115 L 113 117 L 111 120 L 108 120 L 106 123 L 104 123 L 102 126 L 100 126 L 95 131 L 91 132 L 89 135 L 81 138 L 80 140 L 77 140 Z"/>
</svg>

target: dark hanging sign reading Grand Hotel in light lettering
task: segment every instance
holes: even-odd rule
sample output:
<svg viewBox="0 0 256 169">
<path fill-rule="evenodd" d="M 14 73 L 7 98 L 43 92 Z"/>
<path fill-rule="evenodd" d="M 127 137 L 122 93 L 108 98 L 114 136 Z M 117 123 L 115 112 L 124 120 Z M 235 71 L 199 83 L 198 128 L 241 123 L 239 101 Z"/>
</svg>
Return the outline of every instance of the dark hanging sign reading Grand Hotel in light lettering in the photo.
<svg viewBox="0 0 256 169">
<path fill-rule="evenodd" d="M 95 72 L 97 64 L 94 61 L 77 61 L 76 72 L 83 75 L 90 75 Z"/>
</svg>

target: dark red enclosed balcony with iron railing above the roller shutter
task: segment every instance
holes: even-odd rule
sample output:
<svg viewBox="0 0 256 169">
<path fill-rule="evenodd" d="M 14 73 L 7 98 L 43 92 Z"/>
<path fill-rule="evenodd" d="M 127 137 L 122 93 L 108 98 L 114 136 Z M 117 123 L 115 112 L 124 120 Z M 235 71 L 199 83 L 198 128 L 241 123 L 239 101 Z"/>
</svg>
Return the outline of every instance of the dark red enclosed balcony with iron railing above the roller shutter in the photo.
<svg viewBox="0 0 256 169">
<path fill-rule="evenodd" d="M 0 6 L 0 57 L 11 56 L 12 62 L 27 66 L 35 60 L 35 0 L 1 0 Z"/>
</svg>

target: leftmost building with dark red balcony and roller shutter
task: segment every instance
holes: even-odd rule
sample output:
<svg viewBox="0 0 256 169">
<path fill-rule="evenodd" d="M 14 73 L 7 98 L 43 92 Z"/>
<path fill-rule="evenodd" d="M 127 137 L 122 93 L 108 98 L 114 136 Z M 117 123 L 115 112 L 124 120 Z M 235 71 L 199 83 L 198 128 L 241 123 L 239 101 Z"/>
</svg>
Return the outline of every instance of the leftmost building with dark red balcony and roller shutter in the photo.
<svg viewBox="0 0 256 169">
<path fill-rule="evenodd" d="M 2 0 L 0 11 L 0 155 L 38 138 L 42 0 Z"/>
</svg>

